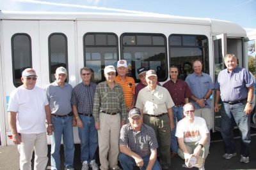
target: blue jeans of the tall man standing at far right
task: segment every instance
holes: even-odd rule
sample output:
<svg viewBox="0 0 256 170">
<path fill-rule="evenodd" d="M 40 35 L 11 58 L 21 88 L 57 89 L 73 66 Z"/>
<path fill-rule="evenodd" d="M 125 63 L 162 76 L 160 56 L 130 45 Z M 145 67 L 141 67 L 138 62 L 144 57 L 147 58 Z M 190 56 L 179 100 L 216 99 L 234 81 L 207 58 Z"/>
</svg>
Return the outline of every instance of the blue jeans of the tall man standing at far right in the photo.
<svg viewBox="0 0 256 170">
<path fill-rule="evenodd" d="M 241 134 L 241 152 L 244 157 L 248 157 L 250 154 L 250 115 L 246 115 L 244 112 L 244 103 L 221 105 L 221 135 L 224 141 L 225 153 L 236 153 L 236 147 L 234 143 L 234 126 L 237 125 Z"/>
</svg>

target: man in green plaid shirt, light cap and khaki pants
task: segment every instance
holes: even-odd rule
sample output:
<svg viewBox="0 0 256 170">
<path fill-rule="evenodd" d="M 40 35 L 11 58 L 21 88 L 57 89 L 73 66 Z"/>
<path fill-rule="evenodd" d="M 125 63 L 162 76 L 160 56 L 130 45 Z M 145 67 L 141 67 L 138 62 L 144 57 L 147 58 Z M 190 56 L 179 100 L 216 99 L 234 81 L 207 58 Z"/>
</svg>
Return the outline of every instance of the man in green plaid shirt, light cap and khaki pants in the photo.
<svg viewBox="0 0 256 170">
<path fill-rule="evenodd" d="M 117 165 L 120 127 L 125 124 L 124 92 L 115 82 L 114 66 L 104 68 L 106 81 L 97 85 L 93 101 L 93 117 L 98 130 L 100 169 L 120 169 Z M 108 159 L 107 159 L 108 157 Z"/>
</svg>

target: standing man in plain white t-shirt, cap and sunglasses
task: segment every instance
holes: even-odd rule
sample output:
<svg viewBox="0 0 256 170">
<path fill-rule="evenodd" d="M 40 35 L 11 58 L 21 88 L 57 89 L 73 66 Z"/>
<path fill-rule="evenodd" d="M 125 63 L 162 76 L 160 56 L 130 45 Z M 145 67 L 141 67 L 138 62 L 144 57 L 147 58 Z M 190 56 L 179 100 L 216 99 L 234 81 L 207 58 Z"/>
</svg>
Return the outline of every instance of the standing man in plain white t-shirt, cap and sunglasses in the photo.
<svg viewBox="0 0 256 170">
<path fill-rule="evenodd" d="M 31 169 L 31 158 L 35 150 L 34 169 L 45 169 L 48 162 L 47 134 L 52 134 L 51 111 L 44 89 L 36 87 L 36 72 L 28 68 L 22 72 L 23 85 L 13 90 L 9 101 L 9 123 L 12 141 L 18 145 L 20 170 Z"/>
</svg>

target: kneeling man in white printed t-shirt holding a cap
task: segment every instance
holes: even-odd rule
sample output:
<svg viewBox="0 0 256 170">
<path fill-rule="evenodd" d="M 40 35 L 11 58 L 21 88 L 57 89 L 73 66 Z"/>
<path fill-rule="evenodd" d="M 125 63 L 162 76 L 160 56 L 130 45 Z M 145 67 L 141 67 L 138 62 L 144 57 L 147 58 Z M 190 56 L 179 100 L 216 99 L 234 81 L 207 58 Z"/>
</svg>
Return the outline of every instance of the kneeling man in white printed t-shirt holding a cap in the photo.
<svg viewBox="0 0 256 170">
<path fill-rule="evenodd" d="M 184 118 L 177 124 L 175 136 L 178 138 L 178 154 L 182 159 L 190 159 L 192 156 L 202 157 L 205 161 L 209 153 L 209 143 L 207 143 L 209 131 L 204 118 L 195 117 L 195 108 L 192 103 L 187 103 L 183 107 Z M 204 170 L 204 162 L 202 167 Z"/>
</svg>

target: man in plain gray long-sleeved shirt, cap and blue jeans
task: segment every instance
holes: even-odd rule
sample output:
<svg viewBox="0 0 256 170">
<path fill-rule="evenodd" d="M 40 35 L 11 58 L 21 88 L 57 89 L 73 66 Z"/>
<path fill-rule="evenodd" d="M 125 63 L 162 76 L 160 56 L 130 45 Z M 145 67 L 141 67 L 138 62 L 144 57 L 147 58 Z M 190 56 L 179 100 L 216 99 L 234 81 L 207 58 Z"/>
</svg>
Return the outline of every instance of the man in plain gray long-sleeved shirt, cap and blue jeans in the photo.
<svg viewBox="0 0 256 170">
<path fill-rule="evenodd" d="M 60 146 L 63 135 L 65 169 L 74 169 L 74 138 L 72 128 L 72 86 L 65 83 L 67 70 L 58 67 L 54 74 L 56 80 L 45 88 L 52 113 L 54 128 L 51 138 L 51 169 L 60 169 Z M 75 115 L 77 117 L 78 115 Z"/>
</svg>

